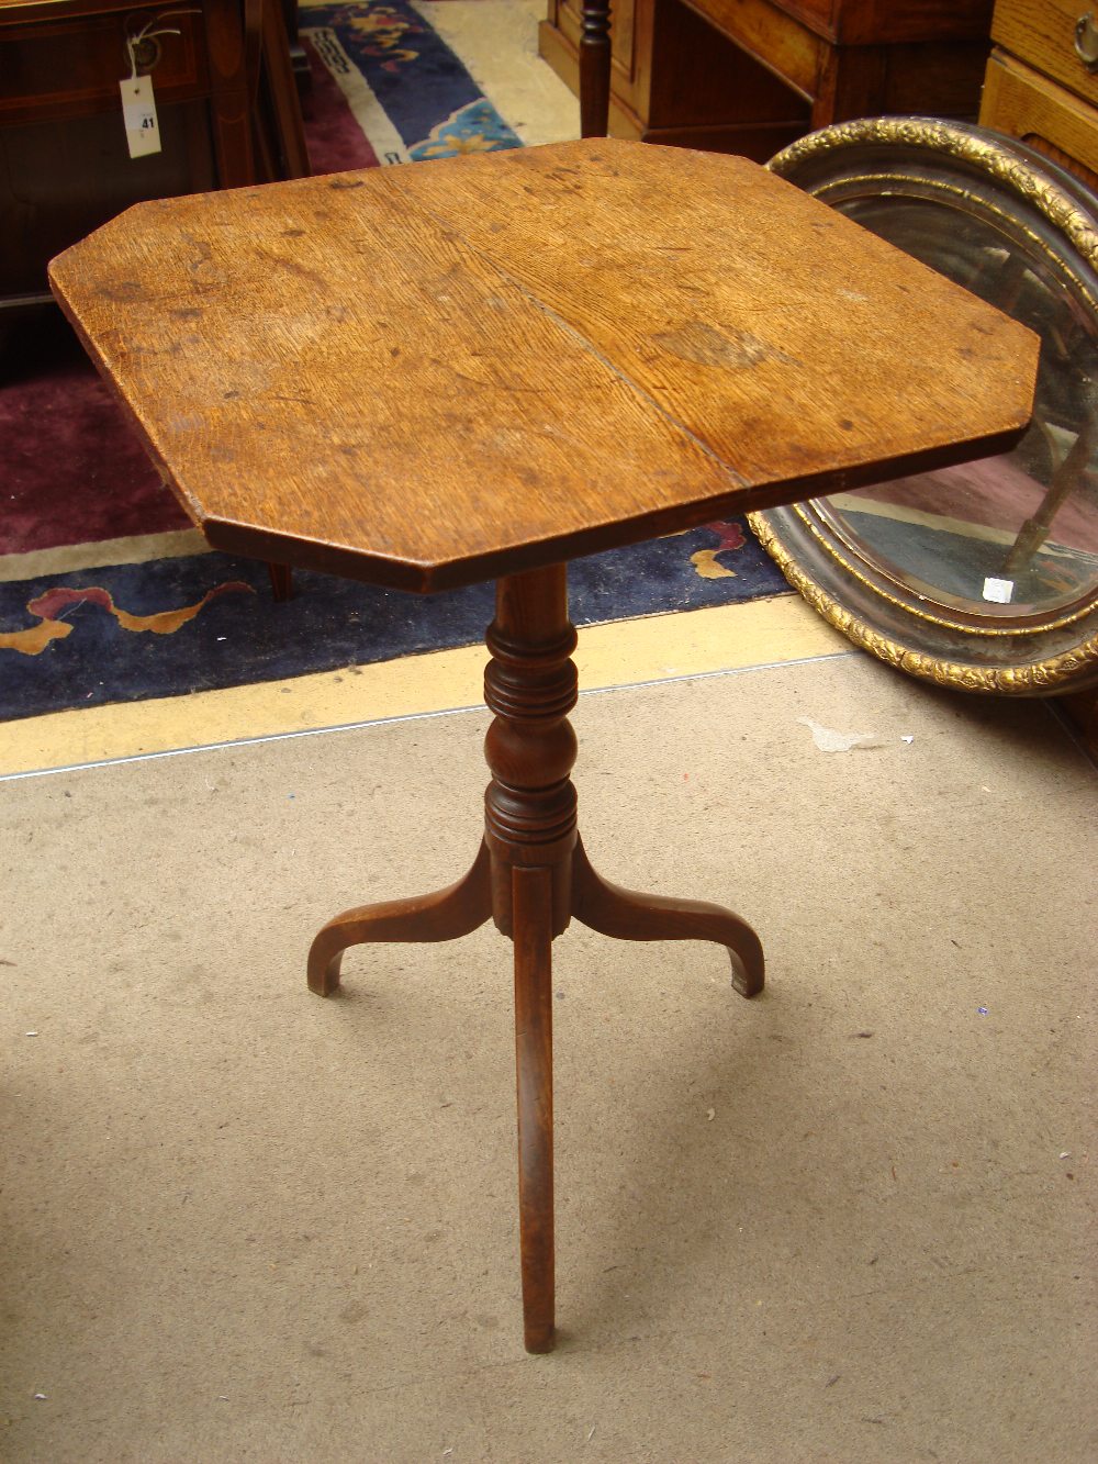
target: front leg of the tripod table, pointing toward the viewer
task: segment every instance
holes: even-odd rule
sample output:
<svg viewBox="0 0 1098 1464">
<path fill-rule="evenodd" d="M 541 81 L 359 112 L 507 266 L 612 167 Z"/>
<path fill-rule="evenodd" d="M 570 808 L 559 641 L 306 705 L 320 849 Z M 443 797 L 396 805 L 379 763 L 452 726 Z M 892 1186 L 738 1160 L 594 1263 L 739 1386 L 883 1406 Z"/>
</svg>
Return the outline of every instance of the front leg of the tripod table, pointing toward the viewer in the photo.
<svg viewBox="0 0 1098 1464">
<path fill-rule="evenodd" d="M 553 878 L 546 867 L 515 867 L 511 873 L 523 1329 L 529 1353 L 550 1353 L 555 1341 Z"/>
</svg>

